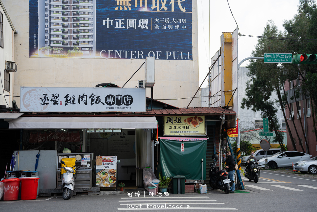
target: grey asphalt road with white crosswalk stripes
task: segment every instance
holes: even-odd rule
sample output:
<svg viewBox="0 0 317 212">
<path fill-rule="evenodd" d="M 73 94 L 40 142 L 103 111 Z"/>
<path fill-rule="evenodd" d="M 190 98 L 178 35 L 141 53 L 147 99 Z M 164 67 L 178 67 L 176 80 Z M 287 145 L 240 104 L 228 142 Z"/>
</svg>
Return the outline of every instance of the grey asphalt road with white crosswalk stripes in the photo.
<svg viewBox="0 0 317 212">
<path fill-rule="evenodd" d="M 243 177 L 245 190 L 225 194 L 207 189 L 207 194 L 185 193 L 150 196 L 143 189 L 125 189 L 123 195 L 77 195 L 36 200 L 0 201 L 0 211 L 317 211 L 317 175 L 292 171 L 261 170 L 258 183 Z M 139 196 L 135 195 L 139 191 Z M 128 196 L 127 192 L 133 192 Z M 242 193 L 243 192 L 243 193 Z"/>
</svg>

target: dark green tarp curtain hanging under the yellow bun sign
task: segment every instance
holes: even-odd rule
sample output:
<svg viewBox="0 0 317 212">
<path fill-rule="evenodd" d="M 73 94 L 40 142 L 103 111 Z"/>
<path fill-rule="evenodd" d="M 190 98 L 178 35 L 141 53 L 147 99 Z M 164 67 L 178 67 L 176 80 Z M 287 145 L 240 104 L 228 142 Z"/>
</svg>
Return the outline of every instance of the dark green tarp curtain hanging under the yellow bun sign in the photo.
<svg viewBox="0 0 317 212">
<path fill-rule="evenodd" d="M 202 162 L 204 179 L 206 179 L 207 140 L 182 141 L 160 139 L 160 162 L 158 171 L 162 176 L 184 175 L 185 179 L 202 180 Z"/>
</svg>

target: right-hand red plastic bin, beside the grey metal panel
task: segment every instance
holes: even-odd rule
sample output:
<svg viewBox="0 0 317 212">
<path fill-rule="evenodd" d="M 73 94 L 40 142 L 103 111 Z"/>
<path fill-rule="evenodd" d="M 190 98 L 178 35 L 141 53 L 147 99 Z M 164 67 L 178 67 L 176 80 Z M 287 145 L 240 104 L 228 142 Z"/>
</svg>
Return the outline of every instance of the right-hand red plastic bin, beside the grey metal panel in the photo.
<svg viewBox="0 0 317 212">
<path fill-rule="evenodd" d="M 21 178 L 21 200 L 35 200 L 39 178 L 22 177 Z"/>
</svg>

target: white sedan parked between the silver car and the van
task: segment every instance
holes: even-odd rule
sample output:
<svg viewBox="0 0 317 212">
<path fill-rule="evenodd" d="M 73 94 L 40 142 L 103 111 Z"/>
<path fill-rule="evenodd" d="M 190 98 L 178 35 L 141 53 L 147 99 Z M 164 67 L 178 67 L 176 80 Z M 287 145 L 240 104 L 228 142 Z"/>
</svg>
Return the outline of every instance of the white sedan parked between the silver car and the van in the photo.
<svg viewBox="0 0 317 212">
<path fill-rule="evenodd" d="M 311 154 L 306 154 L 302 152 L 295 151 L 283 151 L 276 153 L 272 157 L 268 157 L 268 166 L 270 168 L 277 167 L 292 167 L 292 163 L 296 163 L 297 161 L 309 160 L 312 158 Z M 265 167 L 265 159 L 262 158 L 259 160 L 259 167 Z"/>
</svg>

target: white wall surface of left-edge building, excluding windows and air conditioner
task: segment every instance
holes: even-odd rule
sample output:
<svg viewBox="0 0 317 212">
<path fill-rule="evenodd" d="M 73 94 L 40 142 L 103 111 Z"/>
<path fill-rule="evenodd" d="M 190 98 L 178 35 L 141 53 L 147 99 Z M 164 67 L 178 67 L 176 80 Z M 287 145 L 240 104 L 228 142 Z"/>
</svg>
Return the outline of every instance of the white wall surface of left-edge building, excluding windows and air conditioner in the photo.
<svg viewBox="0 0 317 212">
<path fill-rule="evenodd" d="M 4 86 L 4 68 L 5 61 L 13 61 L 13 38 L 14 31 L 11 28 L 10 22 L 3 8 L 0 6 L 0 12 L 3 14 L 3 48 L 0 47 L 0 72 L 1 72 L 1 92 L 7 96 L 0 95 L 0 105 L 6 105 L 7 107 L 12 107 L 13 97 L 13 76 L 14 72 L 10 72 L 10 92 L 3 90 Z"/>
</svg>

